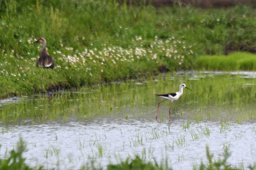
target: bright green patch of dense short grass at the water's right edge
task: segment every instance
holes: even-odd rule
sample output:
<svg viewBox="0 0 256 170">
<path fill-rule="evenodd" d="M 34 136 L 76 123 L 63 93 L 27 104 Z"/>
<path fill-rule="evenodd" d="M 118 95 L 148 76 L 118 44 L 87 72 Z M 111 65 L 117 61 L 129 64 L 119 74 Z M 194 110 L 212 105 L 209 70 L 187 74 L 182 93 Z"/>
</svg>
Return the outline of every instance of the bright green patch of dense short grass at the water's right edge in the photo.
<svg viewBox="0 0 256 170">
<path fill-rule="evenodd" d="M 235 52 L 230 55 L 200 56 L 195 59 L 198 70 L 234 71 L 256 70 L 256 55 L 246 52 Z"/>
</svg>

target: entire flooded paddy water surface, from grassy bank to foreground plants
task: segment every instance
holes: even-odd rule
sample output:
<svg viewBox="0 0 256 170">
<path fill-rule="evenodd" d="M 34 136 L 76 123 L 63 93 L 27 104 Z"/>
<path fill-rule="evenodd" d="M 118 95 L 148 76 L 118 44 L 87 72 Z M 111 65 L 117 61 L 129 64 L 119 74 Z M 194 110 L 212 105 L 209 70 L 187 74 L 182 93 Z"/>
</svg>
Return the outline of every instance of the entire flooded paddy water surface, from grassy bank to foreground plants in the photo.
<svg viewBox="0 0 256 170">
<path fill-rule="evenodd" d="M 28 149 L 24 157 L 31 166 L 79 169 L 95 161 L 95 167 L 106 168 L 138 154 L 163 165 L 167 160 L 173 169 L 192 169 L 205 163 L 208 145 L 216 159 L 228 149 L 228 162 L 246 168 L 256 160 L 255 75 L 179 72 L 143 82 L 62 92 L 59 97 L 1 100 L 1 114 L 9 116 L 1 117 L 0 157 L 21 136 Z M 180 82 L 193 91 L 184 91 L 174 102 L 171 122 L 166 121 L 170 102 L 161 103 L 156 121 L 161 99 L 153 94 L 170 92 L 170 88 L 177 91 Z M 200 84 L 213 92 L 204 96 Z M 215 94 L 215 88 L 228 97 Z"/>
</svg>

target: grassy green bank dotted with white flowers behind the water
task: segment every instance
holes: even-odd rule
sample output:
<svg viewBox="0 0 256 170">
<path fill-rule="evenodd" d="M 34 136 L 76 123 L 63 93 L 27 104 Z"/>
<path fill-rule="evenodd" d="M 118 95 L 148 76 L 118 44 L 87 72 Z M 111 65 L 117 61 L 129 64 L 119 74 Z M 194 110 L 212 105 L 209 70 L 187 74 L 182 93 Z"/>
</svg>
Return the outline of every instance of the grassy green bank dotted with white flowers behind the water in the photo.
<svg viewBox="0 0 256 170">
<path fill-rule="evenodd" d="M 256 11 L 242 5 L 201 9 L 7 0 L 0 9 L 0 98 L 141 78 L 158 74 L 159 66 L 188 70 L 196 68 L 197 56 L 255 49 Z M 31 41 L 38 37 L 48 42 L 54 70 L 35 67 L 41 47 Z M 255 70 L 244 63 L 250 67 L 239 69 Z"/>
</svg>

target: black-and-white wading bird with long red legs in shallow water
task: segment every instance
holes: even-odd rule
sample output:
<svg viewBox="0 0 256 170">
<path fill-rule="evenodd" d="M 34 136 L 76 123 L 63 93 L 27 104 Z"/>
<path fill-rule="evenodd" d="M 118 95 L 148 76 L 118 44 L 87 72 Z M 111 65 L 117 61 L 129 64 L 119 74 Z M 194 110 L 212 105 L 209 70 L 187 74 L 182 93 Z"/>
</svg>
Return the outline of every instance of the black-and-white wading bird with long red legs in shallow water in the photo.
<svg viewBox="0 0 256 170">
<path fill-rule="evenodd" d="M 170 120 L 171 121 L 171 108 L 172 108 L 172 103 L 173 101 L 175 100 L 178 100 L 178 98 L 180 98 L 180 96 L 182 95 L 183 93 L 183 88 L 187 88 L 188 90 L 190 90 L 188 87 L 186 87 L 185 84 L 181 84 L 180 85 L 180 91 L 176 92 L 176 93 L 169 93 L 169 94 L 156 94 L 156 96 L 160 97 L 160 98 L 163 98 L 165 100 L 161 101 L 158 103 L 158 109 L 157 109 L 157 116 L 158 116 L 158 110 L 159 110 L 159 104 L 166 101 L 166 100 L 170 100 L 171 101 L 171 106 L 170 106 L 170 109 L 169 109 L 169 115 L 170 115 Z M 157 120 L 157 117 L 155 118 L 155 120 Z"/>
</svg>

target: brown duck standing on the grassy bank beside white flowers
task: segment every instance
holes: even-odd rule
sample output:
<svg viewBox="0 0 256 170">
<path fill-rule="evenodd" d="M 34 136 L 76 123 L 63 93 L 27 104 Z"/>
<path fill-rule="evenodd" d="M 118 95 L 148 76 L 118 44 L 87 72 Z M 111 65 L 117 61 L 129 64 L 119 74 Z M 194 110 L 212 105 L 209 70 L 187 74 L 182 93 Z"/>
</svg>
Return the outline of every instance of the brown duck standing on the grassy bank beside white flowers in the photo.
<svg viewBox="0 0 256 170">
<path fill-rule="evenodd" d="M 32 42 L 32 44 L 41 43 L 43 48 L 40 54 L 39 59 L 37 60 L 37 67 L 44 68 L 54 68 L 55 62 L 52 56 L 50 56 L 46 50 L 46 40 L 44 38 L 39 38 L 37 41 Z"/>
</svg>

